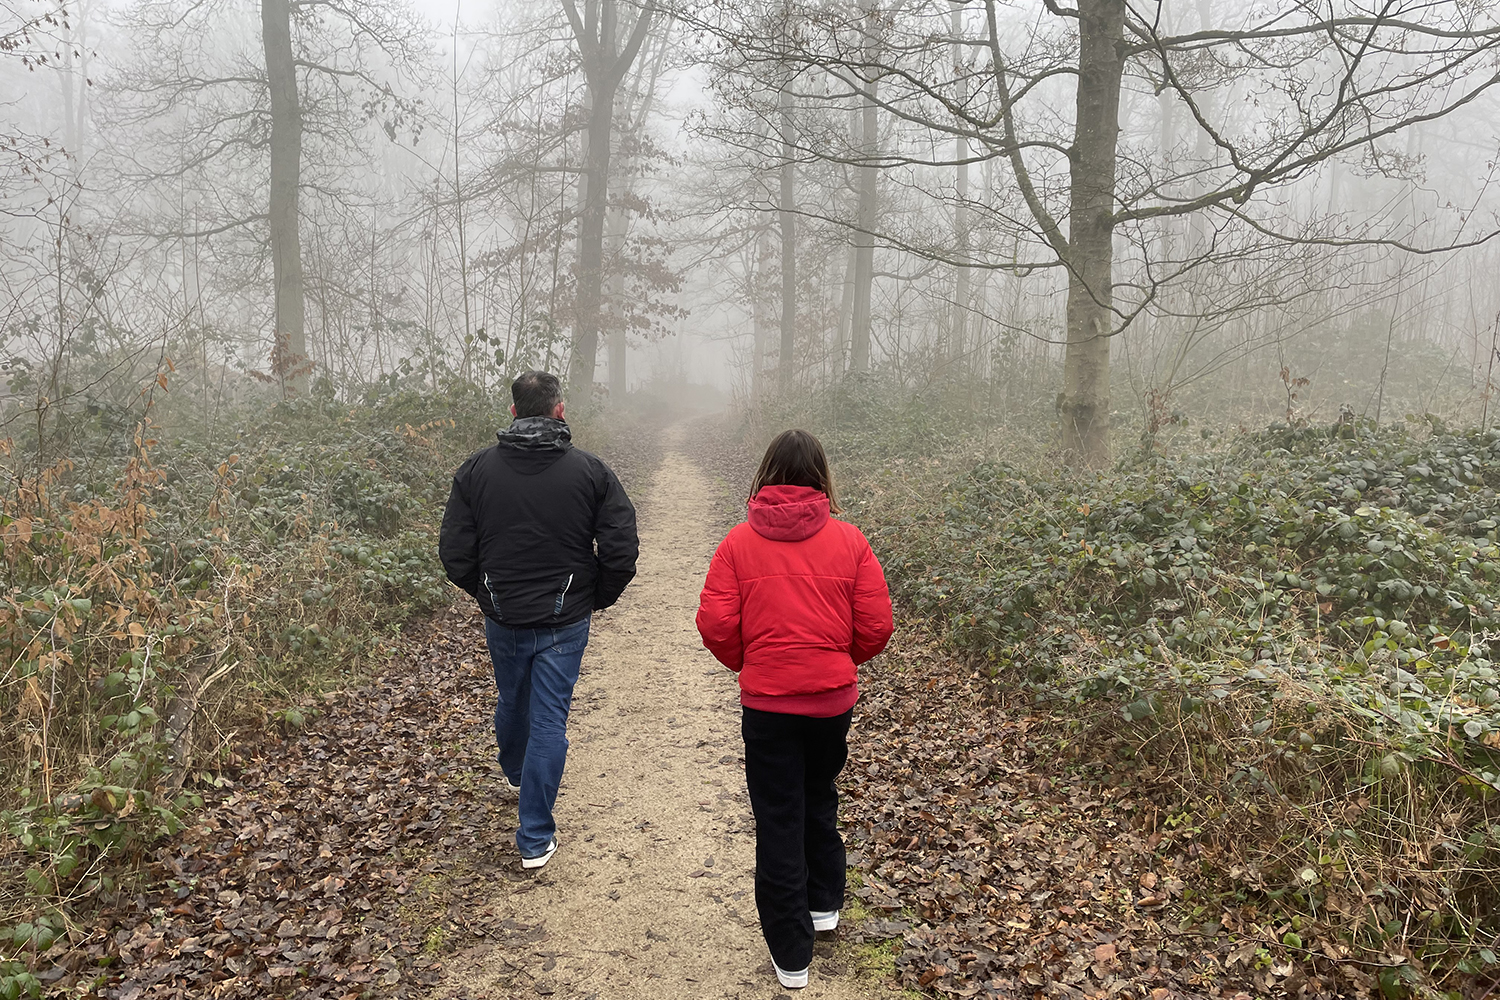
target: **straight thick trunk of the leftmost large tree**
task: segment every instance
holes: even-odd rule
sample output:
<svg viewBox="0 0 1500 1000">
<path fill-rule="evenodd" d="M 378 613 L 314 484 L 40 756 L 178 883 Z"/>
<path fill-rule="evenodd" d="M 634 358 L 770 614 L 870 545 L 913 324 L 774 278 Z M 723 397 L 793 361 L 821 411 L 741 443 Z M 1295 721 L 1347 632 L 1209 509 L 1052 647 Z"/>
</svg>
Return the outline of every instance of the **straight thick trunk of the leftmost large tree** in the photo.
<svg viewBox="0 0 1500 1000">
<path fill-rule="evenodd" d="M 297 195 L 302 187 L 302 106 L 291 51 L 290 0 L 261 0 L 261 42 L 272 96 L 270 234 L 272 282 L 276 300 L 272 373 L 284 394 L 308 391 L 306 304 L 303 301 L 302 240 Z"/>
</svg>

